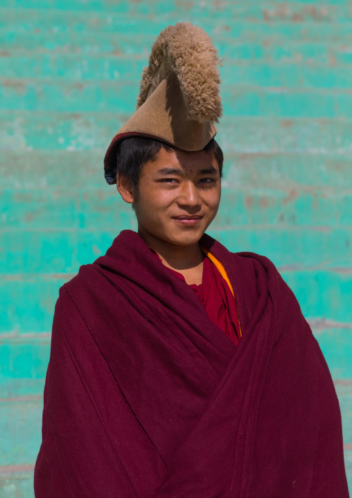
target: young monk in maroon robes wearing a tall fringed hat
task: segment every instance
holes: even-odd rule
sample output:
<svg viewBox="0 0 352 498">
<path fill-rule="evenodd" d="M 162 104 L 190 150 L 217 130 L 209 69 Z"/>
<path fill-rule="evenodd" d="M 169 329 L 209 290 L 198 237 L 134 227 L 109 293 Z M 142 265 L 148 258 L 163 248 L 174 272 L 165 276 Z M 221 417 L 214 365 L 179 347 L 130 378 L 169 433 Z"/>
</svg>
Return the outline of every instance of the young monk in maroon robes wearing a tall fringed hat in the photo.
<svg viewBox="0 0 352 498">
<path fill-rule="evenodd" d="M 37 498 L 349 496 L 333 381 L 297 300 L 267 258 L 204 234 L 221 194 L 216 62 L 200 28 L 166 28 L 109 146 L 138 233 L 60 289 Z"/>
</svg>

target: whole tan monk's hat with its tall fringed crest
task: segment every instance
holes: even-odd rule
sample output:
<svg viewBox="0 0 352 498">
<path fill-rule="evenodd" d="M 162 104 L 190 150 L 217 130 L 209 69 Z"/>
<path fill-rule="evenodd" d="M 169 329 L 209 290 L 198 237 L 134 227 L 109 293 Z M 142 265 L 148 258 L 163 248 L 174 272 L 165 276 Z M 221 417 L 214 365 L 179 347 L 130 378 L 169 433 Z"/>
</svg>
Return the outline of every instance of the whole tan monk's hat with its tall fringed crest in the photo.
<svg viewBox="0 0 352 498">
<path fill-rule="evenodd" d="M 117 145 L 149 137 L 184 151 L 200 151 L 215 137 L 222 115 L 218 51 L 205 31 L 179 22 L 161 31 L 143 69 L 137 110 L 105 155 L 105 178 L 116 183 Z"/>
</svg>

